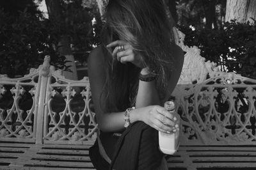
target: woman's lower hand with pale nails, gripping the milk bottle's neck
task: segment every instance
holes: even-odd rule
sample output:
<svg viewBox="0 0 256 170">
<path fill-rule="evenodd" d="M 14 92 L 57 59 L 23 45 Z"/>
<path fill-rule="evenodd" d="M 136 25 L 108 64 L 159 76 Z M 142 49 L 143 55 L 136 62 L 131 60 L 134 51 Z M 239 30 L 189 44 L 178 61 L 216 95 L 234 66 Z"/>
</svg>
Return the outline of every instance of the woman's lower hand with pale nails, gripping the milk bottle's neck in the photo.
<svg viewBox="0 0 256 170">
<path fill-rule="evenodd" d="M 150 127 L 164 133 L 171 133 L 179 126 L 175 112 L 170 113 L 160 105 L 150 105 L 135 109 L 135 114 L 139 114 L 139 120 Z"/>
</svg>

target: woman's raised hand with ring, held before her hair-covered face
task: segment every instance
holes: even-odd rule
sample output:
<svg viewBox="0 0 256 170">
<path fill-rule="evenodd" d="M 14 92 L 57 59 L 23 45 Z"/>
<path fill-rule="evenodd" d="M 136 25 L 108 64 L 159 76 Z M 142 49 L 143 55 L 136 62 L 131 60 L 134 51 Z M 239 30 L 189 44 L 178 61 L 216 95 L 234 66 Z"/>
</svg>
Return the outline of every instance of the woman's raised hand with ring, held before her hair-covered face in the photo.
<svg viewBox="0 0 256 170">
<path fill-rule="evenodd" d="M 107 45 L 107 47 L 115 47 L 112 52 L 113 58 L 116 58 L 120 63 L 131 62 L 132 64 L 138 66 L 139 68 L 144 68 L 143 59 L 139 54 L 136 54 L 128 42 L 123 40 L 116 40 Z"/>
</svg>

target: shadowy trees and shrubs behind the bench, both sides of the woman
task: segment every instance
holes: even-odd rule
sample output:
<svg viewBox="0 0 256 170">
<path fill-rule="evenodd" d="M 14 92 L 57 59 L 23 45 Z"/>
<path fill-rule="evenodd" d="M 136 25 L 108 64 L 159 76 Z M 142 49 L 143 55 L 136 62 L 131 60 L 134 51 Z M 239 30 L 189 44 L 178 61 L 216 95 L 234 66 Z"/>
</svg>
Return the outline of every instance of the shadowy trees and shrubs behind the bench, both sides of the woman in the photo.
<svg viewBox="0 0 256 170">
<path fill-rule="evenodd" d="M 186 45 L 199 47 L 224 72 L 256 78 L 254 1 L 166 0 L 166 6 Z M 101 27 L 96 0 L 1 1 L 0 74 L 21 77 L 50 55 L 67 78 L 82 79 Z"/>
</svg>

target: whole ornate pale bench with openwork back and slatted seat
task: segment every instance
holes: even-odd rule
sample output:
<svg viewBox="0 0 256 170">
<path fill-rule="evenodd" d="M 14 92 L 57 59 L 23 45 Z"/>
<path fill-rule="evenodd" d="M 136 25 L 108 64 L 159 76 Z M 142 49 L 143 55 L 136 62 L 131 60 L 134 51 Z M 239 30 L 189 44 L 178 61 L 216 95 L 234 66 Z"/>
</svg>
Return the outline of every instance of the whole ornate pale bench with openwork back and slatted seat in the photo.
<svg viewBox="0 0 256 170">
<path fill-rule="evenodd" d="M 220 72 L 179 37 L 186 54 L 172 98 L 182 134 L 168 167 L 256 167 L 256 81 Z M 0 169 L 94 169 L 88 148 L 98 128 L 88 77 L 65 79 L 49 61 L 18 79 L 0 75 Z"/>
</svg>

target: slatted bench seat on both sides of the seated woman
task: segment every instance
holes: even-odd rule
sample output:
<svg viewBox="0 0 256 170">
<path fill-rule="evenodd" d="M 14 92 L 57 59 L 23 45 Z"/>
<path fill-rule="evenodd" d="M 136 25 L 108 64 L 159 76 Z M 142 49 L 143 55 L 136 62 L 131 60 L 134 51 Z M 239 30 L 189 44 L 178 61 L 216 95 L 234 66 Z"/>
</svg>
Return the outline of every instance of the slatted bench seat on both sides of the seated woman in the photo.
<svg viewBox="0 0 256 170">
<path fill-rule="evenodd" d="M 0 143 L 0 169 L 95 169 L 88 145 Z M 168 156 L 174 170 L 256 167 L 256 148 L 251 146 L 180 146 Z"/>
</svg>

